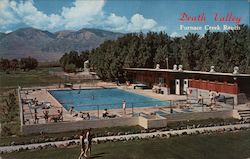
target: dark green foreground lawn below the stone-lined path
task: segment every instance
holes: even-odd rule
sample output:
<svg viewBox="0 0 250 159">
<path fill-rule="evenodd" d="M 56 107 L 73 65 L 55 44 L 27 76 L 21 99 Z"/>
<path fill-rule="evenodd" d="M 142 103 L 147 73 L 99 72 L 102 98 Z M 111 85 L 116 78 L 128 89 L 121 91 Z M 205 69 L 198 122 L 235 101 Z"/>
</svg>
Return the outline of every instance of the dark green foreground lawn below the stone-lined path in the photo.
<svg viewBox="0 0 250 159">
<path fill-rule="evenodd" d="M 246 159 L 250 131 L 93 145 L 99 159 Z M 3 159 L 76 159 L 79 147 L 15 152 Z"/>
</svg>

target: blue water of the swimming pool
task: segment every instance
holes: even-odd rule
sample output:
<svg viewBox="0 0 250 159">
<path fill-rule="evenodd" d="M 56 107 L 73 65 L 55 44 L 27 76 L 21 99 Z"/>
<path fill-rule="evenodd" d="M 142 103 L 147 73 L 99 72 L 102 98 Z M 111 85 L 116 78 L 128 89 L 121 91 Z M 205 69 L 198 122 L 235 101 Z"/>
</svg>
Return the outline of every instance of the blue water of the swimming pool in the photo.
<svg viewBox="0 0 250 159">
<path fill-rule="evenodd" d="M 167 106 L 166 101 L 130 93 L 117 88 L 97 88 L 81 90 L 53 90 L 49 91 L 65 109 L 74 106 L 77 111 L 99 109 L 121 109 L 122 101 L 126 101 L 126 107 L 152 107 Z"/>
</svg>

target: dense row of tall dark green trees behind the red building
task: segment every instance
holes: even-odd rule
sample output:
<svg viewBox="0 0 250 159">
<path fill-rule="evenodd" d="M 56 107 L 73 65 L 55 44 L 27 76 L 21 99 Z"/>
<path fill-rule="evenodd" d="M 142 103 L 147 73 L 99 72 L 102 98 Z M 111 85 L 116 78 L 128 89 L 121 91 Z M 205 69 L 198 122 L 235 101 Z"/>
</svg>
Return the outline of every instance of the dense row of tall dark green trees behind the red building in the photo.
<svg viewBox="0 0 250 159">
<path fill-rule="evenodd" d="M 87 53 L 91 68 L 103 80 L 125 78 L 123 68 L 128 67 L 154 68 L 159 63 L 164 68 L 166 58 L 170 67 L 182 64 L 186 70 L 209 71 L 214 65 L 218 72 L 232 72 L 237 65 L 244 73 L 250 65 L 248 43 L 248 26 L 241 26 L 238 31 L 207 31 L 203 37 L 197 33 L 176 38 L 164 32 L 128 33 L 117 40 L 105 41 Z M 76 67 L 81 67 L 84 55 L 78 56 Z M 63 58 L 69 57 L 65 54 Z M 70 63 L 69 59 L 61 61 Z"/>
</svg>

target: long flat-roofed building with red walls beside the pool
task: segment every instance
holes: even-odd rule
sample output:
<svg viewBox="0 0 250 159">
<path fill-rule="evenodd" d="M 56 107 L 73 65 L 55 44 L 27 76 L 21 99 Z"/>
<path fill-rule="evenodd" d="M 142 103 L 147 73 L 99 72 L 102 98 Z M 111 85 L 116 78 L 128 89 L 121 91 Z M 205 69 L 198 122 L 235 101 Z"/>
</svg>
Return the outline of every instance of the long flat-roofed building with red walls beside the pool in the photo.
<svg viewBox="0 0 250 159">
<path fill-rule="evenodd" d="M 142 83 L 150 88 L 159 86 L 163 94 L 208 94 L 209 90 L 226 97 L 234 97 L 235 104 L 241 98 L 250 97 L 250 74 L 188 71 L 181 69 L 125 68 L 127 78 L 133 83 Z"/>
</svg>

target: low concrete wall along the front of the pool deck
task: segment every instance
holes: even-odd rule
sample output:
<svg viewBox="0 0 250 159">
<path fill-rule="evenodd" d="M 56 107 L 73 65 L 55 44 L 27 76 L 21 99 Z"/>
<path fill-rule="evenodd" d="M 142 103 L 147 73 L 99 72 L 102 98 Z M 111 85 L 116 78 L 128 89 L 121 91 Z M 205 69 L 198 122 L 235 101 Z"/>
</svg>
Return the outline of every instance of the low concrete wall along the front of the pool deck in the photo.
<svg viewBox="0 0 250 159">
<path fill-rule="evenodd" d="M 194 112 L 194 113 L 178 113 L 165 115 L 162 120 L 153 120 L 150 123 L 146 123 L 146 128 L 148 126 L 157 126 L 165 127 L 166 121 L 183 121 L 183 120 L 202 120 L 209 118 L 231 118 L 234 117 L 232 110 L 227 111 L 218 111 L 218 112 Z M 23 125 L 22 132 L 23 134 L 32 134 L 32 133 L 56 133 L 56 132 L 67 132 L 74 131 L 86 128 L 103 128 L 103 127 L 115 127 L 115 126 L 145 126 L 144 122 L 140 120 L 141 116 L 131 117 L 131 118 L 114 118 L 114 119 L 104 119 L 104 120 L 82 120 L 77 122 L 58 122 L 58 123 L 49 123 L 49 124 L 33 124 L 33 125 Z M 150 119 L 149 119 L 150 120 Z M 165 124 L 163 123 L 165 120 Z M 152 125 L 153 124 L 153 125 Z"/>
</svg>

